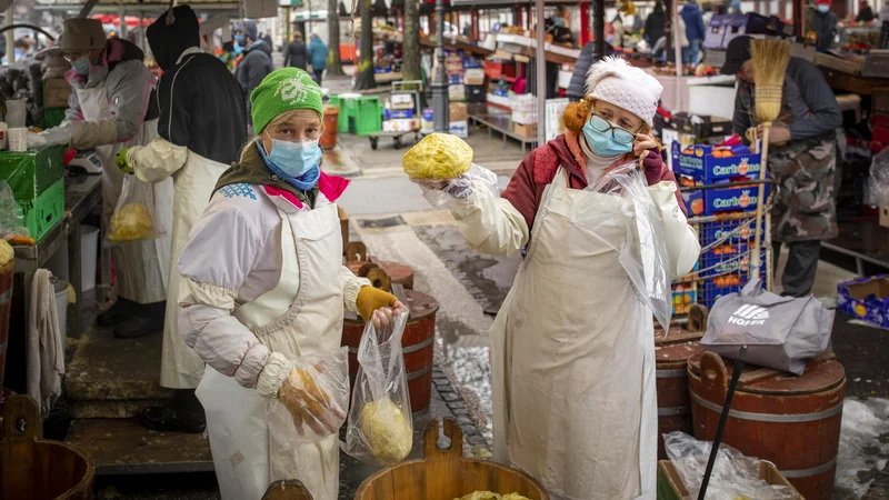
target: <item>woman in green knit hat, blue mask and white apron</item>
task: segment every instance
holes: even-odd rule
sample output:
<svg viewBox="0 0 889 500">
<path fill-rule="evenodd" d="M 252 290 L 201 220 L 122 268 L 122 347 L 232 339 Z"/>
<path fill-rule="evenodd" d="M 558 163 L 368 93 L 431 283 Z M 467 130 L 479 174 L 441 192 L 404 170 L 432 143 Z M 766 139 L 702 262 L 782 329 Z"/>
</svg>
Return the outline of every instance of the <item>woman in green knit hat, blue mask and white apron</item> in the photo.
<svg viewBox="0 0 889 500">
<path fill-rule="evenodd" d="M 349 406 L 342 308 L 379 324 L 403 306 L 342 266 L 336 201 L 349 182 L 320 170 L 318 84 L 281 69 L 250 102 L 257 137 L 179 259 L 180 332 L 213 368 L 197 393 L 222 499 L 299 479 L 334 500 Z"/>
</svg>

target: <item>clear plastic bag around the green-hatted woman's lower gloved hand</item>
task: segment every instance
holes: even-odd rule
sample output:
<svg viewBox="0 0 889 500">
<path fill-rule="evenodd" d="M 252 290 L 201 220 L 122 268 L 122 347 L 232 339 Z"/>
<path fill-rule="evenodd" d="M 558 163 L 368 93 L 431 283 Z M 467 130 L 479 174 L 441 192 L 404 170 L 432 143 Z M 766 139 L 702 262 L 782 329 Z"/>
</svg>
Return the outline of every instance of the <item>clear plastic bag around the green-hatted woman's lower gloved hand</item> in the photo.
<svg viewBox="0 0 889 500">
<path fill-rule="evenodd" d="M 301 356 L 278 398 L 266 401 L 269 434 L 283 448 L 321 441 L 339 432 L 349 409 L 349 348 Z"/>
</svg>

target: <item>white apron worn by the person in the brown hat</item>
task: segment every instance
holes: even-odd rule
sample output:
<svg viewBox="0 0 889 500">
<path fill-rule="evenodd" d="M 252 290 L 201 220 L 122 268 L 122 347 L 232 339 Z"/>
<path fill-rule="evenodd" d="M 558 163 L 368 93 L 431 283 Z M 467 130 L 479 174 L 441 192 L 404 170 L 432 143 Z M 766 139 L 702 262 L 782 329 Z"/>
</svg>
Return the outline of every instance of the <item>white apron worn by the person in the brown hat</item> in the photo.
<svg viewBox="0 0 889 500">
<path fill-rule="evenodd" d="M 104 83 L 76 91 L 86 121 L 113 118 Z M 128 142 L 96 147 L 96 152 L 102 160 L 102 226 L 106 231 L 123 187 L 124 174 L 114 164 L 114 157 L 123 148 L 147 144 L 157 134 L 158 121 L 151 120 L 143 122 L 139 133 Z M 160 221 L 167 228 L 167 233 L 152 240 L 116 244 L 111 248 L 118 276 L 118 296 L 138 303 L 167 299 L 173 218 L 172 179 L 154 184 L 154 199 L 158 200 Z"/>
</svg>

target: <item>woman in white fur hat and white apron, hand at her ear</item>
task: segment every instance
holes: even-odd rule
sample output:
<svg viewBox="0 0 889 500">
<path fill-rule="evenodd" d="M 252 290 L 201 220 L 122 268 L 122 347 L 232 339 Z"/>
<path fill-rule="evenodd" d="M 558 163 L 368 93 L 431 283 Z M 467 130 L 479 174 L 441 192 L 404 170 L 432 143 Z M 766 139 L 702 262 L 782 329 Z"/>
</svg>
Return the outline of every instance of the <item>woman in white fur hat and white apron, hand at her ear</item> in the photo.
<svg viewBox="0 0 889 500">
<path fill-rule="evenodd" d="M 590 69 L 587 96 L 566 110 L 568 131 L 532 151 L 499 198 L 467 176 L 421 184 L 450 194 L 475 250 L 509 256 L 527 246 L 491 328 L 495 458 L 556 498 L 656 497 L 652 311 L 637 299 L 613 244 L 633 241 L 627 228 L 635 226 L 623 220 L 633 216 L 593 184 L 638 161 L 670 272 L 691 270 L 698 237 L 649 134 L 661 90 L 608 58 Z"/>
</svg>

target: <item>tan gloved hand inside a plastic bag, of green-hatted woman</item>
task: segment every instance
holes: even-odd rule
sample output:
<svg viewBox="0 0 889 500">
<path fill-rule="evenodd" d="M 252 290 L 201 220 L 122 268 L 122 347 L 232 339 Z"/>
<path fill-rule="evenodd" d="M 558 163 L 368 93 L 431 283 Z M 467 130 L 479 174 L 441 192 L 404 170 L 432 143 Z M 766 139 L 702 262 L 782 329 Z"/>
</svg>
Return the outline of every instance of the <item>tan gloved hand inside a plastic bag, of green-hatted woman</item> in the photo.
<svg viewBox="0 0 889 500">
<path fill-rule="evenodd" d="M 313 369 L 294 368 L 278 390 L 278 400 L 290 412 L 300 436 L 304 436 L 307 426 L 318 436 L 334 434 L 346 418 L 342 410 L 330 404 L 330 396 L 318 386 L 316 377 L 322 371 L 320 364 Z"/>
</svg>

